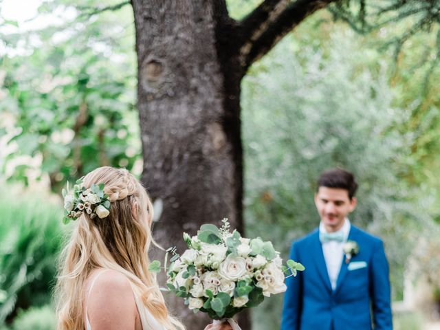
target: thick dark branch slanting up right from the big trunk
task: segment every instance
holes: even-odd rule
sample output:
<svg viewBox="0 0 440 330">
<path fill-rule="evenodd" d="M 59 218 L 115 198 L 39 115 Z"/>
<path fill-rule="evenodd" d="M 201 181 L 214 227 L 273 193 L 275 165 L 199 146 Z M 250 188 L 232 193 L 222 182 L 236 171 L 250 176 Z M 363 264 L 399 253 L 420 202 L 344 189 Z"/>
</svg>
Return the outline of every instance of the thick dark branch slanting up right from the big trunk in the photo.
<svg viewBox="0 0 440 330">
<path fill-rule="evenodd" d="M 335 0 L 266 0 L 243 19 L 240 63 L 246 69 L 310 14 Z"/>
</svg>

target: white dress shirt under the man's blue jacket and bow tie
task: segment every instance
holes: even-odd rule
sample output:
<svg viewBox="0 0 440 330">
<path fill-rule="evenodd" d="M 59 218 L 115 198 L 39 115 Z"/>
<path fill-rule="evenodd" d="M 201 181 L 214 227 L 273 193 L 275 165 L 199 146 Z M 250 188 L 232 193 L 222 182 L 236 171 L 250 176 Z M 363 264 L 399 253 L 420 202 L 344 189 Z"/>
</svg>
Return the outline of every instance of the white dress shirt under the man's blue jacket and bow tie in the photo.
<svg viewBox="0 0 440 330">
<path fill-rule="evenodd" d="M 331 288 L 336 289 L 336 281 L 338 281 L 339 271 L 344 258 L 344 243 L 347 242 L 350 233 L 350 221 L 345 218 L 344 225 L 338 230 L 344 234 L 344 241 L 329 241 L 322 243 L 322 252 L 324 253 L 325 265 L 327 265 L 327 272 L 329 273 Z M 324 223 L 319 224 L 320 232 L 327 232 Z"/>
</svg>

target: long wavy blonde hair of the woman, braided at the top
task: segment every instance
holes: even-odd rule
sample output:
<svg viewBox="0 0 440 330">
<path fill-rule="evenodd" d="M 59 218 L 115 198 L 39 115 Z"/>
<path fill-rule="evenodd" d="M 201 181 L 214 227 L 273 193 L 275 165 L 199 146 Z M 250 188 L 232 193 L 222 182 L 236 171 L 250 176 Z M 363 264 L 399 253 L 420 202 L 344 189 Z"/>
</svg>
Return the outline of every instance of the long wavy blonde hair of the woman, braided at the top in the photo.
<svg viewBox="0 0 440 330">
<path fill-rule="evenodd" d="M 58 330 L 85 329 L 83 291 L 96 268 L 116 270 L 131 281 L 144 307 L 166 329 L 184 329 L 168 315 L 155 274 L 148 271 L 148 248 L 153 241 L 153 206 L 144 187 L 128 170 L 104 166 L 84 178 L 84 186 L 104 184 L 111 201 L 107 218 L 82 214 L 61 253 L 55 288 Z"/>
</svg>

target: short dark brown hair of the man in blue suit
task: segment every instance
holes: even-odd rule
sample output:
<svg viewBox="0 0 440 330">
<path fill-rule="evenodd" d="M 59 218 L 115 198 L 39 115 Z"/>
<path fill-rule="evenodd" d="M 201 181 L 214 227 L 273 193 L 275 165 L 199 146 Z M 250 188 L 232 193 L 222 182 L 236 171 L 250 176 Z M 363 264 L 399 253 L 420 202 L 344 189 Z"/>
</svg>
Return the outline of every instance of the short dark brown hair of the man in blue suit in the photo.
<svg viewBox="0 0 440 330">
<path fill-rule="evenodd" d="M 331 168 L 321 173 L 318 179 L 318 187 L 340 188 L 349 192 L 349 199 L 352 199 L 358 189 L 355 176 L 348 170 L 342 168 Z"/>
</svg>

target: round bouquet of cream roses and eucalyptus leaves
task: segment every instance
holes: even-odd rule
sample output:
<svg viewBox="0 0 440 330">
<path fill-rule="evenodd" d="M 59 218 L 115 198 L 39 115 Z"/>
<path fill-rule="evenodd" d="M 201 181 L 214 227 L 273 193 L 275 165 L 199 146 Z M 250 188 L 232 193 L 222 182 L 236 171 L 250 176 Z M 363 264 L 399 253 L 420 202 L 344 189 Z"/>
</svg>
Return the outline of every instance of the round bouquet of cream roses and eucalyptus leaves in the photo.
<svg viewBox="0 0 440 330">
<path fill-rule="evenodd" d="M 285 292 L 285 274 L 295 276 L 304 270 L 292 260 L 283 266 L 271 242 L 245 239 L 236 230 L 230 232 L 227 219 L 222 222 L 221 228 L 202 225 L 197 236 L 184 233 L 188 249 L 183 254 L 167 250 L 174 254 L 166 269 L 168 289 L 184 298 L 189 309 L 208 313 L 214 320 L 232 318 L 265 297 Z M 153 261 L 150 270 L 159 269 L 159 261 Z"/>
</svg>

